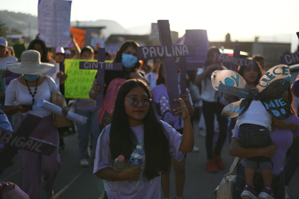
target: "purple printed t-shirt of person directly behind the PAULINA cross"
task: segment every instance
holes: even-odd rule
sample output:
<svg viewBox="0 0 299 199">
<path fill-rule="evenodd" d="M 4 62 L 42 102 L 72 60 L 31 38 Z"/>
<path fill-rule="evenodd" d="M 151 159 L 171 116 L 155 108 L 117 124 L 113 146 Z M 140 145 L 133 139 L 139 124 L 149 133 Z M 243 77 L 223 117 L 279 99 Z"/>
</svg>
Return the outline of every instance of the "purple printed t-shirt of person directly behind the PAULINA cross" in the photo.
<svg viewBox="0 0 299 199">
<path fill-rule="evenodd" d="M 189 90 L 187 91 L 189 93 L 190 103 L 193 105 L 190 92 Z M 159 120 L 163 120 L 167 124 L 170 124 L 174 129 L 182 129 L 184 127 L 182 117 L 173 115 L 170 112 L 169 97 L 167 94 L 167 88 L 164 86 L 164 84 L 159 84 L 158 86 L 154 87 L 152 89 L 152 94 L 157 118 Z"/>
</svg>

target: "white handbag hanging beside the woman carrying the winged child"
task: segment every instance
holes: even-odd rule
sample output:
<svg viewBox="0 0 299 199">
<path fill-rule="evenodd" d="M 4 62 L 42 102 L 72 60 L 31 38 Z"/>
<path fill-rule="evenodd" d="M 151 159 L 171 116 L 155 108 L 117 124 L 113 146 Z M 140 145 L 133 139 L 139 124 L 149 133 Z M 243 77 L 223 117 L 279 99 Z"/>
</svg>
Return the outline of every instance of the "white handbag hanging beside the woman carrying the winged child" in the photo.
<svg viewBox="0 0 299 199">
<path fill-rule="evenodd" d="M 212 199 L 233 199 L 235 189 L 236 175 L 233 175 L 239 161 L 239 157 L 235 157 L 229 172 L 223 176 L 219 186 L 213 192 Z"/>
</svg>

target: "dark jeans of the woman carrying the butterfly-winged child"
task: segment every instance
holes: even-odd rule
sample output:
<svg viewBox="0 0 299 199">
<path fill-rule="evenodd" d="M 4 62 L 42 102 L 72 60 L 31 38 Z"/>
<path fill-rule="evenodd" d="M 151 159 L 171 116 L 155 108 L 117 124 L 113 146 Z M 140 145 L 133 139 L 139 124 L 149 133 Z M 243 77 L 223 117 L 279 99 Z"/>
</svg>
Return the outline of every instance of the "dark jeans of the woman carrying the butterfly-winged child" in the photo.
<svg viewBox="0 0 299 199">
<path fill-rule="evenodd" d="M 236 171 L 236 181 L 235 181 L 235 189 L 234 189 L 234 199 L 241 199 L 241 194 L 243 192 L 244 186 L 246 185 L 245 182 L 245 171 L 244 166 L 239 163 L 237 165 Z M 263 177 L 260 173 L 255 173 L 254 175 L 254 186 L 257 188 L 257 191 L 264 187 Z M 273 194 L 275 199 L 284 199 L 286 190 L 284 187 L 284 173 L 283 171 L 280 172 L 278 175 L 272 175 L 272 183 L 271 188 L 273 190 Z"/>
</svg>

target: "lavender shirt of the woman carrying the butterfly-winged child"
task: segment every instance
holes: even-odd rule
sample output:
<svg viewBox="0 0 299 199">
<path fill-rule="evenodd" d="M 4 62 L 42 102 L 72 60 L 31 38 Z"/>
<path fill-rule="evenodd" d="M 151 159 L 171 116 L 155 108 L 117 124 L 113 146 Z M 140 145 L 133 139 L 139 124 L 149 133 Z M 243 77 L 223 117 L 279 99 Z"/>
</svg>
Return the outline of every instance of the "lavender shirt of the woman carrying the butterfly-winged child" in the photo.
<svg viewBox="0 0 299 199">
<path fill-rule="evenodd" d="M 296 115 L 291 115 L 288 119 L 284 121 L 294 122 L 296 124 L 299 124 L 299 118 Z M 238 138 L 238 132 L 239 129 L 236 125 L 232 138 Z M 278 175 L 283 170 L 283 164 L 286 158 L 286 152 L 292 145 L 293 135 L 298 136 L 299 129 L 297 129 L 297 131 L 295 132 L 292 132 L 290 130 L 276 128 L 273 132 L 270 132 L 270 137 L 272 139 L 272 142 L 275 142 L 277 146 L 276 152 L 271 159 L 271 161 L 273 162 L 272 175 Z M 244 166 L 245 162 L 246 159 L 243 158 L 241 164 Z M 257 172 L 260 171 L 257 170 Z"/>
</svg>

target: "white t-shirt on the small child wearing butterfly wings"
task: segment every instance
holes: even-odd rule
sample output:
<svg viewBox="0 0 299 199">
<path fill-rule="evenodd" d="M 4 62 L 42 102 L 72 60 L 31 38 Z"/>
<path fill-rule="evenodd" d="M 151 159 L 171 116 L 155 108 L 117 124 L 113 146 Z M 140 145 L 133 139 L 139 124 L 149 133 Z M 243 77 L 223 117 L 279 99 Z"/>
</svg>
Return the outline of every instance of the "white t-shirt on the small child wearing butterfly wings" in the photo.
<svg viewBox="0 0 299 199">
<path fill-rule="evenodd" d="M 237 120 L 238 128 L 241 124 L 256 124 L 271 131 L 272 117 L 261 101 L 253 100 L 248 109 L 242 115 L 239 115 Z"/>
</svg>

